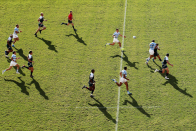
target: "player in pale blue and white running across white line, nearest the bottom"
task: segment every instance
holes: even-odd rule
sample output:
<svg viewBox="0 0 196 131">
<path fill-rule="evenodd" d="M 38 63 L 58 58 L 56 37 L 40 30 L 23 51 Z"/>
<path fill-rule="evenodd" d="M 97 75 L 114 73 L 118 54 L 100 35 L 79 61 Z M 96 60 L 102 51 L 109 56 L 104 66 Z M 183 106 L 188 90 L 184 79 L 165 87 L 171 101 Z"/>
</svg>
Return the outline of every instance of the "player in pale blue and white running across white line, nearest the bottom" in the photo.
<svg viewBox="0 0 196 131">
<path fill-rule="evenodd" d="M 127 82 L 127 80 L 129 80 L 128 78 L 127 78 L 127 67 L 125 66 L 124 67 L 124 70 L 122 70 L 121 72 L 120 72 L 120 76 L 121 76 L 121 78 L 120 78 L 120 83 L 118 83 L 115 79 L 112 79 L 118 86 L 121 86 L 123 83 L 126 85 L 126 89 L 127 89 L 127 94 L 128 95 L 132 95 L 132 93 L 131 92 L 129 92 L 129 89 L 128 89 L 128 82 Z"/>
</svg>

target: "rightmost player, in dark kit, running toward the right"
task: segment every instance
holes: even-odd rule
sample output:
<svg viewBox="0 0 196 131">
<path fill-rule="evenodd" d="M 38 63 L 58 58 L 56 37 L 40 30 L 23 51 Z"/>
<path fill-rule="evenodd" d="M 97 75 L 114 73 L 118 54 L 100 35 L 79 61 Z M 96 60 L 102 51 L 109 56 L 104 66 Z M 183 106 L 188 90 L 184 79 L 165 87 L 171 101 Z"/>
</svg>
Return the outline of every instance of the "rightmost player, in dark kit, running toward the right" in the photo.
<svg viewBox="0 0 196 131">
<path fill-rule="evenodd" d="M 156 70 L 154 71 L 154 72 L 164 73 L 165 70 L 166 70 L 167 72 L 166 72 L 165 79 L 167 79 L 167 80 L 169 79 L 169 78 L 167 77 L 168 74 L 169 74 L 169 68 L 167 67 L 167 63 L 173 67 L 173 65 L 169 63 L 169 58 L 168 58 L 168 57 L 169 57 L 169 54 L 167 53 L 166 56 L 165 56 L 165 58 L 164 58 L 164 60 L 163 60 L 163 62 L 162 62 L 162 70 L 157 70 L 157 69 L 156 69 Z"/>
</svg>

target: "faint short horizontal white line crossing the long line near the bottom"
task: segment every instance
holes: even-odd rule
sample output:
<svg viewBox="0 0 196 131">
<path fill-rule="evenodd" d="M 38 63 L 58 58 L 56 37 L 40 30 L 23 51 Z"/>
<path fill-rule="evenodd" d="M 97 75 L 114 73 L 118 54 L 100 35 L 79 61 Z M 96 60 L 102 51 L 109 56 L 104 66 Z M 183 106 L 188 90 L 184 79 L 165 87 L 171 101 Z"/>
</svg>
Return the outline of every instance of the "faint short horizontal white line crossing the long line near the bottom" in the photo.
<svg viewBox="0 0 196 131">
<path fill-rule="evenodd" d="M 106 108 L 117 108 L 117 107 L 76 107 L 76 108 L 90 108 L 90 109 L 106 109 Z M 119 106 L 119 108 L 160 108 L 160 106 L 138 106 L 138 107 L 134 107 L 134 106 Z"/>
</svg>

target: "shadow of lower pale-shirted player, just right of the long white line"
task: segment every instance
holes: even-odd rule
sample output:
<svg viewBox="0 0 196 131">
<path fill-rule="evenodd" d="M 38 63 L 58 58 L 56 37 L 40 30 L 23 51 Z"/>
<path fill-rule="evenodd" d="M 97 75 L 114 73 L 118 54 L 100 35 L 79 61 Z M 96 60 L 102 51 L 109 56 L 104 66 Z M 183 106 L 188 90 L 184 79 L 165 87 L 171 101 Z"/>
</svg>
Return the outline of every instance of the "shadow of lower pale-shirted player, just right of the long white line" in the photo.
<svg viewBox="0 0 196 131">
<path fill-rule="evenodd" d="M 129 95 L 130 96 L 130 95 Z M 142 106 L 139 106 L 137 101 L 132 97 L 132 102 L 128 101 L 128 100 L 125 100 L 123 105 L 127 105 L 127 103 L 131 104 L 133 107 L 135 107 L 136 109 L 138 109 L 141 113 L 143 113 L 144 115 L 146 115 L 147 117 L 150 117 L 150 114 L 148 114 Z"/>
</svg>

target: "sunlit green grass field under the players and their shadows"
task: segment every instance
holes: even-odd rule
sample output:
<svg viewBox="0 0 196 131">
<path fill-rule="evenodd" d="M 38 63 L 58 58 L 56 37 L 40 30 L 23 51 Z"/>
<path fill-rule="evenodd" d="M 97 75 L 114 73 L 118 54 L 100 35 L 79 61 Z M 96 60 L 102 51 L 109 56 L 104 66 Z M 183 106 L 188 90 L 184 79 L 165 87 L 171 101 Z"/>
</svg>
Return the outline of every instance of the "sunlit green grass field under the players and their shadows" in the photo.
<svg viewBox="0 0 196 131">
<path fill-rule="evenodd" d="M 196 130 L 195 22 L 193 0 L 128 0 L 125 52 L 129 89 L 120 89 L 119 131 Z M 73 11 L 75 28 L 61 25 Z M 47 27 L 38 37 L 37 19 L 44 13 Z M 123 34 L 125 0 L 1 0 L 0 67 L 9 67 L 6 41 L 16 24 L 22 32 L 16 42 L 20 66 L 33 51 L 34 79 L 30 71 L 15 69 L 0 75 L 0 130 L 108 131 L 116 129 L 121 51 L 112 42 L 119 28 Z M 136 36 L 133 39 L 132 36 Z M 156 60 L 145 64 L 149 43 L 159 43 L 163 59 L 170 53 L 169 80 L 154 73 Z M 122 38 L 119 40 L 122 42 Z M 9 54 L 11 56 L 11 54 Z M 81 89 L 95 69 L 95 98 Z"/>
</svg>

